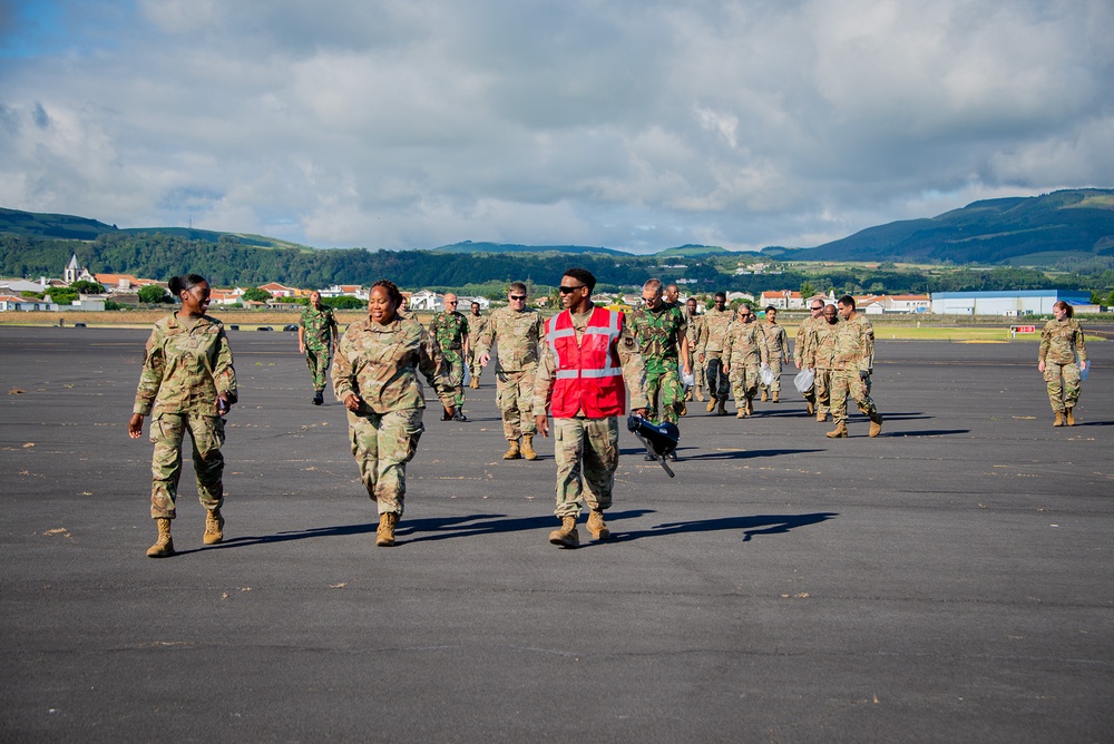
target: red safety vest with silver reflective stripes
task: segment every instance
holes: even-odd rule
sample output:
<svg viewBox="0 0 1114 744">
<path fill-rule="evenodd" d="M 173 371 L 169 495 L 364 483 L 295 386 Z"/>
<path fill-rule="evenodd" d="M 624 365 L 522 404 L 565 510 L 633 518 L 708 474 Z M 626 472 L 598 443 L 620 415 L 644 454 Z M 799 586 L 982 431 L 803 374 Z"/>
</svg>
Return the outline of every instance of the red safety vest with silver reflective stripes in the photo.
<svg viewBox="0 0 1114 744">
<path fill-rule="evenodd" d="M 555 419 L 571 419 L 582 410 L 589 419 L 623 415 L 626 388 L 616 351 L 622 330 L 623 313 L 599 306 L 579 344 L 569 311 L 546 321 L 546 343 L 557 362 L 549 404 Z"/>
</svg>

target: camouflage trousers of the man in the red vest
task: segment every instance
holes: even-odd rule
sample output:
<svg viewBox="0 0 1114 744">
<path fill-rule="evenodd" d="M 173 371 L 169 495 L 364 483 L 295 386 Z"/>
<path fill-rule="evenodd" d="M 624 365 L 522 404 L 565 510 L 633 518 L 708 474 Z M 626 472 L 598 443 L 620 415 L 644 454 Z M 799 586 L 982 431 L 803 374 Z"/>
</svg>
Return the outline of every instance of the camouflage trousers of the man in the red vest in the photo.
<svg viewBox="0 0 1114 744">
<path fill-rule="evenodd" d="M 607 509 L 619 464 L 618 419 L 554 419 L 554 459 L 557 517 L 578 516 L 582 500 L 589 509 Z"/>
</svg>

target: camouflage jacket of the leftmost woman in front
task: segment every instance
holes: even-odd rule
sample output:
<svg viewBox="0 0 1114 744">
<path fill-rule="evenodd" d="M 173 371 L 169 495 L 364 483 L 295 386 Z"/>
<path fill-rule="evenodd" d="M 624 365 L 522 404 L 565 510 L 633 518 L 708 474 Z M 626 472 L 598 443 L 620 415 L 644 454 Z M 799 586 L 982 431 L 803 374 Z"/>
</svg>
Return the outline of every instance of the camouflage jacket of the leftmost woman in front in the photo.
<svg viewBox="0 0 1114 744">
<path fill-rule="evenodd" d="M 236 370 L 221 321 L 190 319 L 192 329 L 170 314 L 155 323 L 144 352 L 143 372 L 133 413 L 201 413 L 216 415 L 216 399 L 235 403 Z"/>
</svg>

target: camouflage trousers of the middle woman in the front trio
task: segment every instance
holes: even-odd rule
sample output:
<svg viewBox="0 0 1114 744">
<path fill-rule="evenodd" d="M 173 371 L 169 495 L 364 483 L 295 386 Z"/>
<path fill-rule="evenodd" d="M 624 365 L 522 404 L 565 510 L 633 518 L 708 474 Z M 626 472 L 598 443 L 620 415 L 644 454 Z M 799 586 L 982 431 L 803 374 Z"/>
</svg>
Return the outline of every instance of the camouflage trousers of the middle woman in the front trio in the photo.
<svg viewBox="0 0 1114 744">
<path fill-rule="evenodd" d="M 379 505 L 379 513 L 402 516 L 407 493 L 407 463 L 418 451 L 426 428 L 422 409 L 408 408 L 387 413 L 348 412 L 352 456 L 368 496 Z"/>
</svg>

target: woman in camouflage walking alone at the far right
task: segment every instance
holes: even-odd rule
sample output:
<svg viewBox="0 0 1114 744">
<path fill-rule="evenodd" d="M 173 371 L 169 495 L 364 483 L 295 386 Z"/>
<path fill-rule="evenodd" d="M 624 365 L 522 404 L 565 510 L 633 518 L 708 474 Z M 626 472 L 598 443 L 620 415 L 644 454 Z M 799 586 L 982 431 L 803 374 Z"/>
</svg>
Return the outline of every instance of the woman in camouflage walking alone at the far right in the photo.
<svg viewBox="0 0 1114 744">
<path fill-rule="evenodd" d="M 1075 405 L 1079 402 L 1081 370 L 1087 369 L 1087 346 L 1083 329 L 1073 315 L 1075 311 L 1061 300 L 1052 307 L 1055 320 L 1045 323 L 1040 332 L 1037 369 L 1048 383 L 1048 402 L 1056 422 L 1052 425 L 1075 425 Z"/>
</svg>

